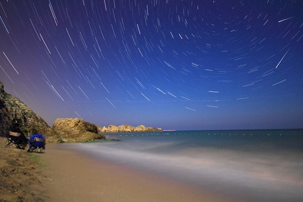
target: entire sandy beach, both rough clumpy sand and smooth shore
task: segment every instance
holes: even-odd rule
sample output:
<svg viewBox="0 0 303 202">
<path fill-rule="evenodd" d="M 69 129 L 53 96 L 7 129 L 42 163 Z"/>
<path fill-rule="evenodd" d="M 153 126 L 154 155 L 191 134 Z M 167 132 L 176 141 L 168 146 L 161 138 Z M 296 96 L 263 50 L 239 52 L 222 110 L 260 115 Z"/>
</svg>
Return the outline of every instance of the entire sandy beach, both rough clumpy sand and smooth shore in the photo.
<svg viewBox="0 0 303 202">
<path fill-rule="evenodd" d="M 0 138 L 4 145 L 5 138 Z M 68 146 L 68 147 L 67 147 Z M 44 153 L 1 147 L 0 200 L 46 202 L 216 202 L 226 198 L 197 187 L 68 149 Z M 34 157 L 38 162 L 34 161 Z M 37 160 L 36 160 L 37 161 Z"/>
</svg>

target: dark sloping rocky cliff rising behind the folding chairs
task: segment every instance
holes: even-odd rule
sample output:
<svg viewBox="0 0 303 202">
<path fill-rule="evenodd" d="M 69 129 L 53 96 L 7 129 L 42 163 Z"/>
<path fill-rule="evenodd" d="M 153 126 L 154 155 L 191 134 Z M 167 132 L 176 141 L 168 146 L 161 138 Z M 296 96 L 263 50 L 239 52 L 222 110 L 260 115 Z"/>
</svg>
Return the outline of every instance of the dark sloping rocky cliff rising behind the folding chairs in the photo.
<svg viewBox="0 0 303 202">
<path fill-rule="evenodd" d="M 43 118 L 30 110 L 18 98 L 6 93 L 3 83 L 0 81 L 0 136 L 8 135 L 15 121 L 18 122 L 21 131 L 26 136 L 41 133 L 47 136 L 48 142 L 62 141 Z"/>
</svg>

